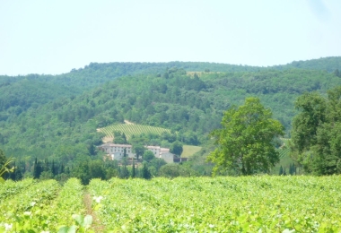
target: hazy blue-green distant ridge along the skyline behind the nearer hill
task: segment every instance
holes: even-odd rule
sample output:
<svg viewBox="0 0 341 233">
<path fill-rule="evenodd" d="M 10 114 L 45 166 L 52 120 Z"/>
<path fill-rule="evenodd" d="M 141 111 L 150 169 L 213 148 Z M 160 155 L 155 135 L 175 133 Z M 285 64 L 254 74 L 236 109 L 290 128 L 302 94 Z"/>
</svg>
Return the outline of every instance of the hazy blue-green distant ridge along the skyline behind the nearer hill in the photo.
<svg viewBox="0 0 341 233">
<path fill-rule="evenodd" d="M 341 76 L 341 57 L 325 57 L 309 61 L 293 62 L 288 65 L 256 67 L 249 65 L 228 65 L 215 63 L 170 62 L 170 63 L 92 63 L 84 68 L 59 75 L 29 74 L 24 76 L 0 75 L 0 119 L 18 115 L 22 111 L 47 103 L 59 97 L 74 97 L 83 91 L 90 91 L 105 82 L 121 76 L 136 74 L 165 75 L 167 70 L 176 67 L 187 72 L 198 73 L 243 73 L 266 70 L 306 69 L 337 73 Z M 200 75 L 200 74 L 199 74 Z M 239 77 L 240 74 L 237 74 Z M 243 88 L 243 87 L 241 87 Z M 10 108 L 10 109 L 8 109 Z M 7 111 L 8 109 L 8 111 Z"/>
</svg>

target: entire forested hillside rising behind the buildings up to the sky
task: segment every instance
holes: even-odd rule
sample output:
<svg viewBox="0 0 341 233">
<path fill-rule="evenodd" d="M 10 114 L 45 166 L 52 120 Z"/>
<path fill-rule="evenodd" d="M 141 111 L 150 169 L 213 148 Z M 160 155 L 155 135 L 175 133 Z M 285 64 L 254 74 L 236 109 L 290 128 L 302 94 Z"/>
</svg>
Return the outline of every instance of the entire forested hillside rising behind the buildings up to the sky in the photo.
<svg viewBox="0 0 341 233">
<path fill-rule="evenodd" d="M 197 145 L 220 127 L 223 111 L 249 96 L 271 108 L 290 137 L 294 100 L 305 91 L 325 95 L 341 85 L 341 78 L 332 72 L 339 62 L 340 57 L 329 57 L 298 66 L 306 69 L 283 65 L 283 70 L 209 63 L 113 63 L 60 75 L 1 76 L 0 148 L 19 160 L 48 158 L 71 165 L 96 154 L 94 146 L 103 136 L 97 128 L 124 119 L 170 129 L 179 141 Z M 310 69 L 315 63 L 317 70 Z"/>
</svg>

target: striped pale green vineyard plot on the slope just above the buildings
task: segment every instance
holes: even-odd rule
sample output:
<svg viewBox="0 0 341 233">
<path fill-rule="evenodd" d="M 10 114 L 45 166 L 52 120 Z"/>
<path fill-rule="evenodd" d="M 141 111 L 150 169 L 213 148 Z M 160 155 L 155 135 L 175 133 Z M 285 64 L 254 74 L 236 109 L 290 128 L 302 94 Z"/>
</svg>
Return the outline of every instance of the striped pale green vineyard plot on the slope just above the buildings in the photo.
<svg viewBox="0 0 341 233">
<path fill-rule="evenodd" d="M 106 134 L 109 137 L 114 137 L 114 132 L 118 131 L 120 133 L 125 133 L 127 139 L 129 139 L 132 135 L 139 134 L 162 134 L 163 132 L 170 133 L 169 129 L 165 129 L 162 127 L 153 127 L 149 125 L 137 125 L 137 124 L 115 124 L 108 125 L 104 128 L 99 129 L 100 132 Z"/>
</svg>

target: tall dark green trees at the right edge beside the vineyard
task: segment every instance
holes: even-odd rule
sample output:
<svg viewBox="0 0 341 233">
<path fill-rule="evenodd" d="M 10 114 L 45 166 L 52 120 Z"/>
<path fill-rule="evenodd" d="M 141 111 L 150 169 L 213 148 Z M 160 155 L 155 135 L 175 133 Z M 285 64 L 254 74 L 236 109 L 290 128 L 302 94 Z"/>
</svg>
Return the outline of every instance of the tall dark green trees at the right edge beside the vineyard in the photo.
<svg viewBox="0 0 341 233">
<path fill-rule="evenodd" d="M 291 156 L 305 172 L 315 175 L 341 173 L 341 86 L 328 91 L 304 93 L 295 108 Z"/>
</svg>

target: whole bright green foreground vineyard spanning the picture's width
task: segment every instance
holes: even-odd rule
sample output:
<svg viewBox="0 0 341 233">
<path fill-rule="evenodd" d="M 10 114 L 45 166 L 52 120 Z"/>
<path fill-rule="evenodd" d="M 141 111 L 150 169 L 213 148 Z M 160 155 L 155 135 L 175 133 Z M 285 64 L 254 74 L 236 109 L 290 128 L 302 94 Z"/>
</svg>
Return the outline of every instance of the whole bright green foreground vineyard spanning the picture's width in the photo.
<svg viewBox="0 0 341 233">
<path fill-rule="evenodd" d="M 87 232 L 340 232 L 340 178 L 112 178 L 84 190 L 76 179 L 6 182 L 0 232 L 81 229 L 73 215 L 86 213 L 96 220 Z"/>
</svg>

